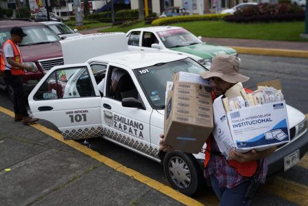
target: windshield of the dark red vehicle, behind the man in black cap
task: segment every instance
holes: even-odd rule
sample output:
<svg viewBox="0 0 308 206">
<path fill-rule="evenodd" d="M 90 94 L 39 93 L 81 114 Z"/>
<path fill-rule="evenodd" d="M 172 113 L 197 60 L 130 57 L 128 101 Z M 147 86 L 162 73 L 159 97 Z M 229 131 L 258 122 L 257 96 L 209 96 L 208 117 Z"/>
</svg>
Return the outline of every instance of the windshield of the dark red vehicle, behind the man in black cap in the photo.
<svg viewBox="0 0 308 206">
<path fill-rule="evenodd" d="M 27 34 L 23 38 L 23 42 L 19 46 L 28 46 L 28 45 L 38 45 L 38 44 L 45 44 L 51 42 L 57 42 L 60 40 L 60 37 L 52 32 L 48 27 L 44 25 L 39 26 L 29 26 L 29 27 L 22 27 L 23 32 Z M 10 38 L 11 28 L 5 28 L 0 30 L 0 44 L 2 44 Z"/>
</svg>

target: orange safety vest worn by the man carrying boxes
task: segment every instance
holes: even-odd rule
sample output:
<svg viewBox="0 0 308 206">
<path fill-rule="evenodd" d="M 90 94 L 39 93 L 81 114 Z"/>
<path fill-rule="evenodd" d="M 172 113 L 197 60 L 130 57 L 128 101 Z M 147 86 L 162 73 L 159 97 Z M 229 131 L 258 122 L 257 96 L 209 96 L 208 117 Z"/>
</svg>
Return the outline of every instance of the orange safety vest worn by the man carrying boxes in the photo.
<svg viewBox="0 0 308 206">
<path fill-rule="evenodd" d="M 245 88 L 245 91 L 247 93 L 252 92 L 251 90 L 246 89 L 246 88 Z M 213 95 L 213 100 L 214 100 L 215 99 L 214 93 L 212 93 L 212 95 Z M 209 163 L 210 157 L 211 157 L 211 139 L 212 139 L 212 135 L 210 135 L 210 137 L 206 139 L 204 168 Z M 235 168 L 235 170 L 237 170 L 237 173 L 241 174 L 241 176 L 252 176 L 254 175 L 254 173 L 257 171 L 257 168 L 258 168 L 257 161 L 248 161 L 245 163 L 240 163 L 238 161 L 231 159 L 231 160 L 228 160 L 228 164 L 232 166 L 233 168 Z"/>
</svg>

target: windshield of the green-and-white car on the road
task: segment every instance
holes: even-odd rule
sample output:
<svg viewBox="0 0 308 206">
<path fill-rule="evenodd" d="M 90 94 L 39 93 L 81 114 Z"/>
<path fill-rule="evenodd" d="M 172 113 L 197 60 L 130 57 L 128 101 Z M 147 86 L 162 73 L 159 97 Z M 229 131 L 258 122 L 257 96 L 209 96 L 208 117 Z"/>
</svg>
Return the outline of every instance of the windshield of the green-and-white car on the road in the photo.
<svg viewBox="0 0 308 206">
<path fill-rule="evenodd" d="M 157 32 L 161 41 L 163 41 L 165 47 L 182 47 L 188 45 L 200 44 L 200 41 L 195 35 L 191 34 L 185 29 L 167 30 Z"/>
</svg>

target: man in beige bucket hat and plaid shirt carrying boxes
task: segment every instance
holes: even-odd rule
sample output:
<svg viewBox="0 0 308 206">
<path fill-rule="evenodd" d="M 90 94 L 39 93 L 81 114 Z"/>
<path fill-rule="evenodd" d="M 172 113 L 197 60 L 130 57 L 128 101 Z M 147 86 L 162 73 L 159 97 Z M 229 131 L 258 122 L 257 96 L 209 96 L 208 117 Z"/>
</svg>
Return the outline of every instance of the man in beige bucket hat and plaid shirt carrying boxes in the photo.
<svg viewBox="0 0 308 206">
<path fill-rule="evenodd" d="M 211 70 L 201 73 L 202 78 L 209 79 L 213 99 L 224 95 L 237 82 L 246 82 L 247 76 L 239 73 L 239 58 L 228 54 L 215 56 Z M 246 89 L 246 92 L 251 92 Z M 161 135 L 164 138 L 164 135 Z M 167 152 L 171 146 L 159 143 L 159 150 Z M 265 183 L 268 172 L 268 157 L 276 150 L 276 146 L 263 151 L 251 150 L 239 153 L 231 150 L 229 159 L 220 152 L 213 135 L 206 140 L 204 160 L 204 177 L 211 179 L 213 190 L 220 199 L 220 205 L 250 205 L 251 198 L 259 182 Z M 161 155 L 160 155 L 161 156 Z"/>
</svg>

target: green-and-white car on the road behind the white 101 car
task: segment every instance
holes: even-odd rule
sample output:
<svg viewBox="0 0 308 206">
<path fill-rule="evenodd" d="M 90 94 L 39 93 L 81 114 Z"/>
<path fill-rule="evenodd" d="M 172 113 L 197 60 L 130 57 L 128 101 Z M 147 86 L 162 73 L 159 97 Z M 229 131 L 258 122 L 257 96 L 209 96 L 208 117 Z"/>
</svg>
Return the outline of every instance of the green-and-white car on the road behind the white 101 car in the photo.
<svg viewBox="0 0 308 206">
<path fill-rule="evenodd" d="M 130 30 L 126 34 L 130 49 L 161 49 L 161 51 L 184 54 L 198 61 L 207 69 L 211 60 L 217 54 L 237 55 L 237 51 L 230 47 L 209 45 L 201 41 L 182 27 L 159 26 L 143 27 Z"/>
</svg>

